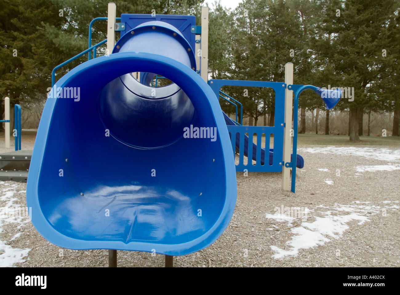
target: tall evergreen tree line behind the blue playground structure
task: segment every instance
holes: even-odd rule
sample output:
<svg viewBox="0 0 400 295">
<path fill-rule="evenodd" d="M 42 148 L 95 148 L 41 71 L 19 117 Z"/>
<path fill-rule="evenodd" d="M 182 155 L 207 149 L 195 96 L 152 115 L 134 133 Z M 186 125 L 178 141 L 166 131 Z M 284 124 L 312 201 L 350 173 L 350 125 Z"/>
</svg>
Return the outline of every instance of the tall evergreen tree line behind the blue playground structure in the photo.
<svg viewBox="0 0 400 295">
<path fill-rule="evenodd" d="M 87 48 L 88 24 L 106 16 L 108 2 L 3 0 L 2 97 L 9 96 L 12 104 L 44 100 L 52 69 Z M 197 24 L 201 22 L 202 0 L 114 2 L 117 14 L 155 10 L 196 15 Z M 294 84 L 350 90 L 335 107 L 350 114 L 350 140 L 363 134 L 363 114 L 372 111 L 393 112 L 393 135 L 399 136 L 399 10 L 399 0 L 243 0 L 233 10 L 214 2 L 209 17 L 209 77 L 283 82 L 284 64 L 292 62 Z M 96 22 L 92 34 L 92 44 L 104 40 L 106 22 Z M 58 77 L 85 60 L 79 58 L 60 69 Z M 265 125 L 273 125 L 272 90 L 227 87 L 223 91 L 243 104 L 250 124 L 263 116 Z M 220 103 L 225 112 L 234 112 L 232 105 Z M 323 110 L 324 103 L 307 90 L 299 107 L 302 132 L 306 109 Z M 329 127 L 328 110 L 325 117 Z"/>
</svg>

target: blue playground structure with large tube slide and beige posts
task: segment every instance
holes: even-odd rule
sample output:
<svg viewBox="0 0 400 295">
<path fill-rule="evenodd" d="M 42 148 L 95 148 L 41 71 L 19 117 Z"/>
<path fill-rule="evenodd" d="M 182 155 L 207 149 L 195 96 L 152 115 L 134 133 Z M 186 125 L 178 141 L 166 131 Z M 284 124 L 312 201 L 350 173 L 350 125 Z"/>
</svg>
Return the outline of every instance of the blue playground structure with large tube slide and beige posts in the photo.
<svg viewBox="0 0 400 295">
<path fill-rule="evenodd" d="M 90 23 L 88 49 L 54 68 L 26 189 L 32 223 L 48 241 L 111 249 L 110 266 L 116 266 L 116 250 L 164 254 L 170 266 L 172 256 L 204 249 L 226 229 L 236 203 L 236 171 L 282 171 L 282 187 L 290 189 L 292 168 L 294 192 L 296 166 L 304 161 L 295 150 L 296 132 L 290 153 L 292 94 L 297 118 L 298 95 L 314 86 L 294 85 L 291 63 L 285 82 L 208 80 L 208 8 L 201 19 L 196 26 L 194 16 L 116 18 L 110 3 L 108 18 Z M 107 20 L 108 35 L 92 46 L 98 20 Z M 109 54 L 96 57 L 105 43 Z M 56 70 L 86 53 L 88 61 L 56 83 Z M 157 75 L 173 83 L 151 87 Z M 238 111 L 236 120 L 224 114 L 218 98 L 228 85 L 272 88 L 274 126 L 242 126 Z M 60 98 L 65 89 L 79 89 L 80 97 Z M 337 101 L 326 100 L 328 108 Z M 254 134 L 256 144 L 249 144 Z"/>
</svg>

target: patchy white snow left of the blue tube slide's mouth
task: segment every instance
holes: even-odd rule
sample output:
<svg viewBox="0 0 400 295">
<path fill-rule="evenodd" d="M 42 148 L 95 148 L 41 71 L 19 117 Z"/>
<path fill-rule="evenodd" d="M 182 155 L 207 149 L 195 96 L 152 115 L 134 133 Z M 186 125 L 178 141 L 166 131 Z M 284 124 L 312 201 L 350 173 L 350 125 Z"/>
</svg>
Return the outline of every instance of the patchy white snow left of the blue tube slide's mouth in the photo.
<svg viewBox="0 0 400 295">
<path fill-rule="evenodd" d="M 0 201 L 4 204 L 3 207 L 0 207 L 0 233 L 5 231 L 4 228 L 9 223 L 16 223 L 13 226 L 21 228 L 24 223 L 29 221 L 26 218 L 28 210 L 13 203 L 17 200 L 14 197 L 14 193 L 17 192 L 15 190 L 16 186 L 18 186 L 17 183 L 10 184 L 0 181 Z M 9 241 L 20 237 L 21 234 L 22 232 L 17 233 Z M 10 267 L 14 263 L 24 262 L 24 257 L 28 256 L 31 249 L 12 248 L 10 245 L 7 245 L 7 242 L 0 240 L 0 267 Z"/>
</svg>

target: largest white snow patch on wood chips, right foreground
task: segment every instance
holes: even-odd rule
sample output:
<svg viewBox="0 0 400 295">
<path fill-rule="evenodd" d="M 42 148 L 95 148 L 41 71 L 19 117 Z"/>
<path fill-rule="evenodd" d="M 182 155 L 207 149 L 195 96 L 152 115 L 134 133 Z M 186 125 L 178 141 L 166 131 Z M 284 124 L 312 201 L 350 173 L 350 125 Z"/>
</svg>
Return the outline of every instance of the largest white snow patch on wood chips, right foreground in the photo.
<svg viewBox="0 0 400 295">
<path fill-rule="evenodd" d="M 349 229 L 347 225 L 350 221 L 358 221 L 362 225 L 369 221 L 367 215 L 386 214 L 387 210 L 396 210 L 399 206 L 375 206 L 368 205 L 370 202 L 353 202 L 354 205 L 335 204 L 333 206 L 319 205 L 316 209 L 328 209 L 327 211 L 317 211 L 313 222 L 302 222 L 300 226 L 293 227 L 291 239 L 286 242 L 285 249 L 271 245 L 271 249 L 275 252 L 272 258 L 279 259 L 287 256 L 298 256 L 301 249 L 313 248 L 318 245 L 324 245 L 332 239 L 339 239 L 344 231 Z M 381 203 L 392 204 L 398 201 L 384 201 Z M 366 204 L 366 205 L 361 205 Z M 314 211 L 314 210 L 310 210 Z M 266 215 L 267 217 L 267 215 Z M 274 218 L 276 215 L 268 215 L 268 218 Z M 282 221 L 282 218 L 274 218 L 277 221 Z M 290 220 L 291 222 L 293 221 Z M 291 223 L 290 223 L 291 224 Z"/>
</svg>

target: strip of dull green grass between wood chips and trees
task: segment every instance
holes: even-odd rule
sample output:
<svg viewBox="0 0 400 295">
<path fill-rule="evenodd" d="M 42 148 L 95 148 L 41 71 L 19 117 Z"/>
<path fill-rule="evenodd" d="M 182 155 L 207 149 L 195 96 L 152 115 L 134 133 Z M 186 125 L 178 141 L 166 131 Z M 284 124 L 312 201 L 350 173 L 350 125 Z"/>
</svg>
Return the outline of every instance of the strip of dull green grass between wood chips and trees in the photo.
<svg viewBox="0 0 400 295">
<path fill-rule="evenodd" d="M 253 142 L 257 143 L 257 137 L 253 137 Z M 345 135 L 324 135 L 324 134 L 298 134 L 298 146 L 389 146 L 400 147 L 400 137 L 398 136 L 360 136 L 360 140 L 350 142 Z M 265 136 L 261 140 L 262 148 L 265 147 Z M 270 148 L 274 147 L 274 139 L 270 139 Z"/>
</svg>

